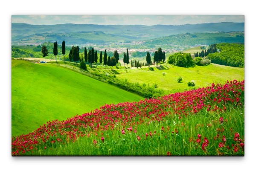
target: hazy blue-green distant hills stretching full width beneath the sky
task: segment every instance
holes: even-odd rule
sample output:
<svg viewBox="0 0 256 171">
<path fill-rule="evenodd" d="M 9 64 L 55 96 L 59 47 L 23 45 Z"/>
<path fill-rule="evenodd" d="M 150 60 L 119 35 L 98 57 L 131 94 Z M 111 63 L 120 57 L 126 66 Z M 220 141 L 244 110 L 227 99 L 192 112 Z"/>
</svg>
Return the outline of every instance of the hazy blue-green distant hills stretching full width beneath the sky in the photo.
<svg viewBox="0 0 256 171">
<path fill-rule="evenodd" d="M 173 25 L 30 25 L 12 23 L 12 44 L 63 40 L 66 44 L 108 43 L 148 40 L 186 32 L 244 32 L 244 23 L 203 23 Z"/>
</svg>

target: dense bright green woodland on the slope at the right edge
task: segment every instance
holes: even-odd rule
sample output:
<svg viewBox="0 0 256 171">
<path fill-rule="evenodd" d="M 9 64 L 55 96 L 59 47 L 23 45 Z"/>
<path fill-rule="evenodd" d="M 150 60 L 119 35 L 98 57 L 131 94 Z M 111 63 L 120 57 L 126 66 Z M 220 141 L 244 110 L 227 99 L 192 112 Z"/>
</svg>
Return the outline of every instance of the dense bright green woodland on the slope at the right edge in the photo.
<svg viewBox="0 0 256 171">
<path fill-rule="evenodd" d="M 244 44 L 220 43 L 216 45 L 220 52 L 208 54 L 212 63 L 230 67 L 244 67 Z"/>
</svg>

